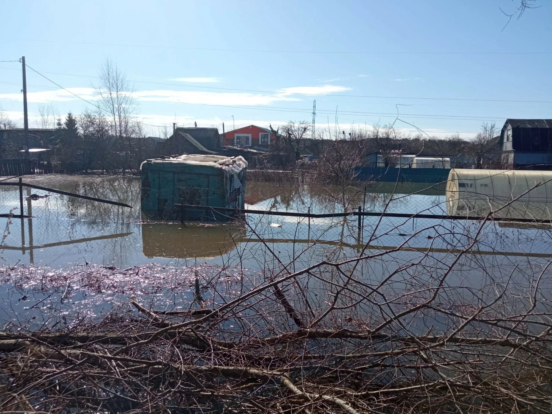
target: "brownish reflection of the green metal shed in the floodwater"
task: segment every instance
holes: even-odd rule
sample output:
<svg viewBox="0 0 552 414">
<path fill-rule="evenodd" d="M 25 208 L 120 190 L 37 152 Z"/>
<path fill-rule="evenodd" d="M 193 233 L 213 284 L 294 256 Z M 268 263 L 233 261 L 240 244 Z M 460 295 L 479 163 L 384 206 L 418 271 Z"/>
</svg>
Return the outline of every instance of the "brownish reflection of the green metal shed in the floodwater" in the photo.
<svg viewBox="0 0 552 414">
<path fill-rule="evenodd" d="M 246 237 L 237 225 L 142 224 L 145 257 L 213 259 L 231 252 Z"/>
</svg>

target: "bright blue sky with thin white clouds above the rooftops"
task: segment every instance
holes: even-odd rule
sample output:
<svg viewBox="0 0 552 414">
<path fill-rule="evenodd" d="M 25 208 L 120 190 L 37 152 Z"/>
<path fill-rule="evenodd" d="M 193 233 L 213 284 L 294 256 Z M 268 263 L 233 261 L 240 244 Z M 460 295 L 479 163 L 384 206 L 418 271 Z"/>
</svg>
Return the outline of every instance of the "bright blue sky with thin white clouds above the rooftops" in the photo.
<svg viewBox="0 0 552 414">
<path fill-rule="evenodd" d="M 552 118 L 552 3 L 502 30 L 500 7 L 517 3 L 0 0 L 0 60 L 24 55 L 91 102 L 112 60 L 134 82 L 136 119 L 152 125 L 310 122 L 316 99 L 319 128 L 336 110 L 340 130 L 390 123 L 400 104 L 429 135 L 469 138 L 484 120 Z M 40 104 L 62 115 L 88 105 L 27 78 L 30 126 Z M 0 107 L 22 124 L 20 82 L 20 64 L 0 62 Z"/>
</svg>

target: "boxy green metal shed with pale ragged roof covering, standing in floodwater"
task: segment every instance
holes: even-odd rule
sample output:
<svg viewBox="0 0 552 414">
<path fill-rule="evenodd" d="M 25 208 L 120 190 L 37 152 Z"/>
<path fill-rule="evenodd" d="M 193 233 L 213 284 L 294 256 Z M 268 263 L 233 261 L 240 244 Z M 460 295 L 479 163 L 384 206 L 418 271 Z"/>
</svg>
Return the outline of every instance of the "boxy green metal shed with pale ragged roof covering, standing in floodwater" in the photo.
<svg viewBox="0 0 552 414">
<path fill-rule="evenodd" d="M 247 161 L 243 157 L 172 156 L 146 160 L 140 169 L 141 208 L 148 219 L 227 221 L 229 214 L 184 205 L 244 207 Z"/>
</svg>

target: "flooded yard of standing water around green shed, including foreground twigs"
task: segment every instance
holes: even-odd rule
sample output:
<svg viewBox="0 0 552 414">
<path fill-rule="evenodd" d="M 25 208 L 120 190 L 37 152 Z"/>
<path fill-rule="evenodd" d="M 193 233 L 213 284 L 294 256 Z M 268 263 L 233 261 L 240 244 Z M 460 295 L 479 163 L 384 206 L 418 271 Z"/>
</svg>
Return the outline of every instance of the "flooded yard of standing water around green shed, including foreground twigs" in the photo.
<svg viewBox="0 0 552 414">
<path fill-rule="evenodd" d="M 177 360 L 184 352 L 170 349 L 184 338 L 198 347 L 190 354 L 184 344 L 198 358 L 190 357 L 189 371 L 221 358 L 263 367 L 255 358 L 266 353 L 270 367 L 291 374 L 312 363 L 322 373 L 332 364 L 367 370 L 351 385 L 359 390 L 416 384 L 416 347 L 466 384 L 474 367 L 524 381 L 532 368 L 508 359 L 521 346 L 533 360 L 549 360 L 540 347 L 552 315 L 549 227 L 436 217 L 447 214 L 441 188 L 359 183 L 343 197 L 321 184 L 250 181 L 248 209 L 335 214 L 360 206 L 372 215 L 247 214 L 183 224 L 145 220 L 136 177 L 25 182 L 133 208 L 24 189 L 32 218 L 0 219 L 0 323 L 8 340 L 47 332 L 40 343 L 59 347 L 58 335 L 71 337 L 63 352 L 76 357 L 82 347 L 95 355 L 136 347 L 126 355 L 145 359 L 162 349 L 160 358 Z M 0 213 L 17 213 L 18 187 L 0 186 L 0 205 Z M 148 345 L 154 331 L 168 328 Z M 529 349 L 529 341 L 537 344 Z M 404 367 L 400 375 L 396 366 Z M 439 381 L 423 372 L 422 382 Z"/>
</svg>

